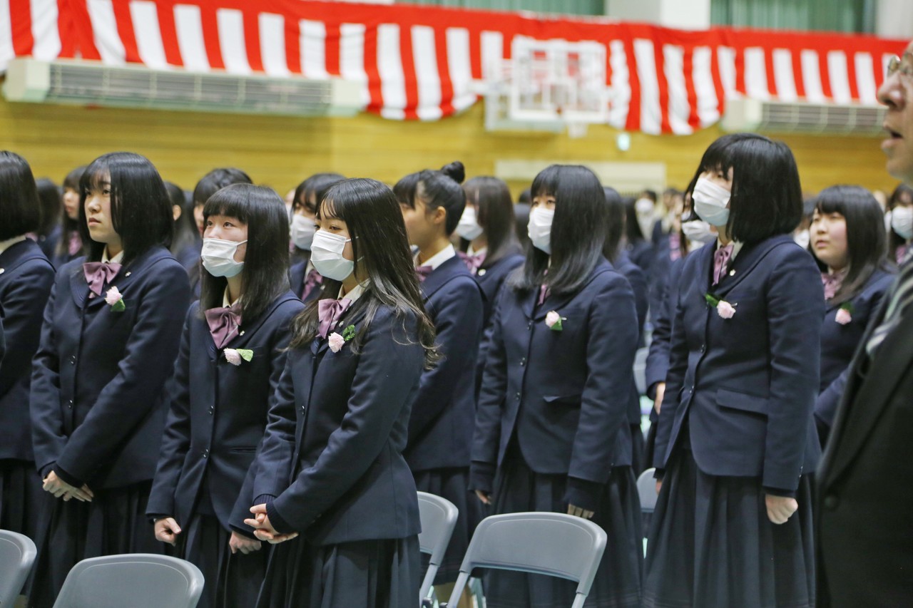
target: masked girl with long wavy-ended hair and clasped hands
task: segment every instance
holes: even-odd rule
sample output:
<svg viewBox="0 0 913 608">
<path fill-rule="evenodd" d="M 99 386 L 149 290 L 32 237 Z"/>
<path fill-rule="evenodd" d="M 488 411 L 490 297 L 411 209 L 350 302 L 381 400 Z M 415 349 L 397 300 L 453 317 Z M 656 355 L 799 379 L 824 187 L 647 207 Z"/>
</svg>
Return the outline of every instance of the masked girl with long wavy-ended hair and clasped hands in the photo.
<svg viewBox="0 0 913 608">
<path fill-rule="evenodd" d="M 317 223 L 324 296 L 295 320 L 252 475 L 247 524 L 281 543 L 257 606 L 411 605 L 420 524 L 402 452 L 422 370 L 437 359 L 434 326 L 387 186 L 335 184 Z"/>
</svg>

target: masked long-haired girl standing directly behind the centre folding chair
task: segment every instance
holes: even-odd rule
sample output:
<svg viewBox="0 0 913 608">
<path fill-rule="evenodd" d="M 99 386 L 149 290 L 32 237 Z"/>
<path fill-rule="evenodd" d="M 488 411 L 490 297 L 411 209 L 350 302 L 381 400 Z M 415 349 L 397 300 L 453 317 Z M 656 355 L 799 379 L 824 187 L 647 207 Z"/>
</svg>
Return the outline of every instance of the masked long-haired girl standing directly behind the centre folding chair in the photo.
<svg viewBox="0 0 913 608">
<path fill-rule="evenodd" d="M 643 534 L 627 408 L 637 313 L 603 257 L 608 205 L 589 169 L 551 165 L 532 183 L 524 267 L 486 335 L 470 487 L 495 514 L 593 519 L 609 541 L 588 602 L 639 606 Z M 490 571 L 488 606 L 572 603 L 572 582 Z"/>
</svg>

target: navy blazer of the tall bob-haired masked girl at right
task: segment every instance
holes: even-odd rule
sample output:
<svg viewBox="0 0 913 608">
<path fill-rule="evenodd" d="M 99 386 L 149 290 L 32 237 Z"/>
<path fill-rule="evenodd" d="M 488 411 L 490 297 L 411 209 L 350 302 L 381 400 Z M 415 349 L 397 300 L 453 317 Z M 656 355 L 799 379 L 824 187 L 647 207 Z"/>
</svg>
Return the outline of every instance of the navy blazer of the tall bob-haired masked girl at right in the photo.
<svg viewBox="0 0 913 608">
<path fill-rule="evenodd" d="M 666 468 L 687 420 L 701 471 L 761 477 L 763 487 L 790 493 L 821 456 L 813 423 L 821 273 L 781 235 L 743 246 L 711 288 L 716 248 L 702 247 L 682 267 L 654 465 Z M 708 304 L 708 291 L 735 307 L 731 319 Z"/>
</svg>

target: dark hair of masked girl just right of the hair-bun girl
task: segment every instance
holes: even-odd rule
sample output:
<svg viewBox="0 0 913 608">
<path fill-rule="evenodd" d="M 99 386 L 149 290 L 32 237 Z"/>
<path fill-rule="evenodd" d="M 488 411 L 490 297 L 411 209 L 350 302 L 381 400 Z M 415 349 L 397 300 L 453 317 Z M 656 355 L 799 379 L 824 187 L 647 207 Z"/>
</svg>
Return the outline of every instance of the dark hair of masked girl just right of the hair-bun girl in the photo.
<svg viewBox="0 0 913 608">
<path fill-rule="evenodd" d="M 480 175 L 463 184 L 467 202 L 476 206 L 476 221 L 485 230 L 488 253 L 483 267 L 490 267 L 502 257 L 519 249 L 514 232 L 514 208 L 508 184 L 497 177 Z M 466 241 L 466 239 L 462 239 Z M 464 243 L 466 251 L 469 242 Z"/>
</svg>

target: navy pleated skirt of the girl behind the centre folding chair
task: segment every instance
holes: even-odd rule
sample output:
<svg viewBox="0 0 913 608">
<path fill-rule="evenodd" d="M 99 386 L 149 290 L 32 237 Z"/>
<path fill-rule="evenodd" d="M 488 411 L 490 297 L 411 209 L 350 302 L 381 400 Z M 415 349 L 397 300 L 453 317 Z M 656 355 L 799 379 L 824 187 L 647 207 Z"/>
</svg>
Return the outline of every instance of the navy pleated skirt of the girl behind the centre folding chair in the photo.
<svg viewBox="0 0 913 608">
<path fill-rule="evenodd" d="M 548 511 L 567 513 L 563 500 L 567 476 L 535 473 L 510 450 L 495 477 L 494 512 Z M 587 608 L 638 608 L 644 562 L 640 501 L 634 472 L 618 466 L 603 487 L 593 515 L 608 535 Z M 543 547 L 542 550 L 548 550 Z M 540 574 L 490 570 L 484 576 L 488 608 L 565 608 L 573 603 L 577 583 Z"/>
</svg>

